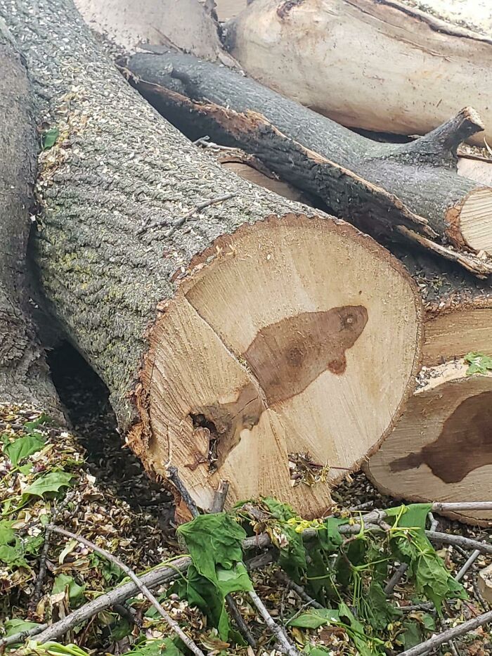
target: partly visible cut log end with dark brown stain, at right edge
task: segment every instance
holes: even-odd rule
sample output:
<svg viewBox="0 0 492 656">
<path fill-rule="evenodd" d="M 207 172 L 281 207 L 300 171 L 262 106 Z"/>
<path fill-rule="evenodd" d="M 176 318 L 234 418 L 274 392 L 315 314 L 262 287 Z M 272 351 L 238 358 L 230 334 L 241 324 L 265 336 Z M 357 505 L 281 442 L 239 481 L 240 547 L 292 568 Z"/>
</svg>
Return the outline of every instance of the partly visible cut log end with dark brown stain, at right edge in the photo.
<svg viewBox="0 0 492 656">
<path fill-rule="evenodd" d="M 366 465 L 385 494 L 408 501 L 481 501 L 492 496 L 492 376 L 464 361 L 426 370 L 396 428 Z M 488 510 L 443 513 L 491 525 Z"/>
</svg>

